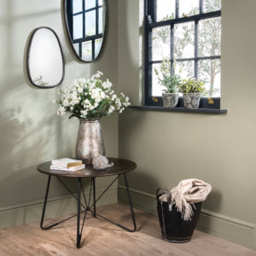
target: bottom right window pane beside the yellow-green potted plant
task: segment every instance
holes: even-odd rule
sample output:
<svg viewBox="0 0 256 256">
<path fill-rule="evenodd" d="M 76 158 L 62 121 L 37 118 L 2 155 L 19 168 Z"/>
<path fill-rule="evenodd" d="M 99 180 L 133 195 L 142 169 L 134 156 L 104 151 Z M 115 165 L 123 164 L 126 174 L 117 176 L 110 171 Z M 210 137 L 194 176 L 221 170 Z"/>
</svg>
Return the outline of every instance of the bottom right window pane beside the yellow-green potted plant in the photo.
<svg viewBox="0 0 256 256">
<path fill-rule="evenodd" d="M 199 61 L 198 75 L 206 85 L 207 96 L 220 97 L 220 60 Z"/>
</svg>

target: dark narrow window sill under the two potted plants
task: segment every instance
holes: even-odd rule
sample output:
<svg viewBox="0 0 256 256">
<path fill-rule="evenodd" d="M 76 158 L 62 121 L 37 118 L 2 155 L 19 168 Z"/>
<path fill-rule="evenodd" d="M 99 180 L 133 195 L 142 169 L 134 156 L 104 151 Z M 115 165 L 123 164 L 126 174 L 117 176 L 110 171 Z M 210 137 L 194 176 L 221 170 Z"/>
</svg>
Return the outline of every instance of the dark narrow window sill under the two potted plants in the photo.
<svg viewBox="0 0 256 256">
<path fill-rule="evenodd" d="M 154 110 L 154 111 L 165 111 L 165 112 L 181 112 L 181 113 L 228 113 L 227 109 L 217 108 L 164 108 L 164 107 L 152 107 L 152 106 L 130 106 L 132 109 L 141 110 Z"/>
</svg>

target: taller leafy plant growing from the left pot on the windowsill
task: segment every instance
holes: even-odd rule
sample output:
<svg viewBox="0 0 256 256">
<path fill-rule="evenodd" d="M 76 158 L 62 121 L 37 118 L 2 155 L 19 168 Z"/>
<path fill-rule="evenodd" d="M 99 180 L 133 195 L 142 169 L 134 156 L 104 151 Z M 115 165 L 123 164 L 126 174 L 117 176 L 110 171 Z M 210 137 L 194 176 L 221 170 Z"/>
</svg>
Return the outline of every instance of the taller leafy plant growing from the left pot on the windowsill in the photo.
<svg viewBox="0 0 256 256">
<path fill-rule="evenodd" d="M 181 79 L 179 75 L 171 75 L 171 63 L 169 60 L 164 59 L 160 65 L 160 72 L 154 68 L 154 73 L 158 77 L 159 84 L 166 87 L 164 92 L 177 93 L 177 86 L 180 84 Z"/>
</svg>

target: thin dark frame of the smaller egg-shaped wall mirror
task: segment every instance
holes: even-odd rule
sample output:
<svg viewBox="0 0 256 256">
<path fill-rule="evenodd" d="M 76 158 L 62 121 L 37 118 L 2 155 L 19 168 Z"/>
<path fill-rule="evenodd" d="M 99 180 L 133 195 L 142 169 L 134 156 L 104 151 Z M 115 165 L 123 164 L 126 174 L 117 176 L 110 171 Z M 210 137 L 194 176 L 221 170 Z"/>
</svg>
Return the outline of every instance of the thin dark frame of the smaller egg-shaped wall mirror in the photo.
<svg viewBox="0 0 256 256">
<path fill-rule="evenodd" d="M 36 34 L 36 32 L 38 32 L 38 30 L 40 29 L 48 29 L 50 32 L 53 32 L 54 35 L 55 35 L 55 38 L 57 39 L 57 42 L 58 42 L 58 45 L 60 47 L 60 51 L 61 51 L 61 59 L 62 59 L 62 77 L 61 77 L 61 81 L 58 83 L 58 84 L 55 84 L 55 85 L 49 85 L 49 86 L 43 86 L 43 85 L 38 85 L 38 84 L 34 84 L 33 80 L 32 80 L 32 77 L 31 77 L 31 68 L 30 68 L 30 65 L 29 65 L 29 60 L 30 60 L 30 55 L 31 55 L 31 49 L 32 49 L 32 41 L 33 41 L 33 38 Z M 64 55 L 63 55 L 63 50 L 62 50 L 62 47 L 61 47 L 61 41 L 60 41 L 60 38 L 58 37 L 58 35 L 56 34 L 56 32 L 50 28 L 49 26 L 39 26 L 37 28 L 35 28 L 33 31 L 32 31 L 32 34 L 29 38 L 29 43 L 28 43 L 28 47 L 27 47 L 27 50 L 26 50 L 26 73 L 27 73 L 27 78 L 29 79 L 29 82 L 33 85 L 33 86 L 36 86 L 38 88 L 42 88 L 42 89 L 50 89 L 50 88 L 54 88 L 58 85 L 60 85 L 62 82 L 63 82 L 63 79 L 65 77 L 65 58 L 64 58 Z"/>
</svg>

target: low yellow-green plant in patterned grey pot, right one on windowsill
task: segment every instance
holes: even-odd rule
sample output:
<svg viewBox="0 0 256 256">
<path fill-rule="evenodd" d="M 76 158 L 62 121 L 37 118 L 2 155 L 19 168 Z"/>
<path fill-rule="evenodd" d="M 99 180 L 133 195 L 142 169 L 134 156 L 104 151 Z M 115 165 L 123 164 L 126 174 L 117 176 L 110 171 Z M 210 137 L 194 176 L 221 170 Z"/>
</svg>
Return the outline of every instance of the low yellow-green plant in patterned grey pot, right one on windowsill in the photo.
<svg viewBox="0 0 256 256">
<path fill-rule="evenodd" d="M 183 79 L 178 85 L 179 92 L 183 93 L 183 102 L 185 108 L 198 108 L 201 94 L 205 92 L 204 84 L 195 78 Z"/>
</svg>

